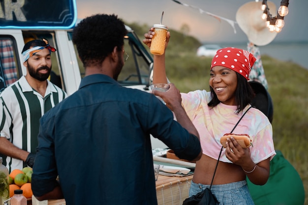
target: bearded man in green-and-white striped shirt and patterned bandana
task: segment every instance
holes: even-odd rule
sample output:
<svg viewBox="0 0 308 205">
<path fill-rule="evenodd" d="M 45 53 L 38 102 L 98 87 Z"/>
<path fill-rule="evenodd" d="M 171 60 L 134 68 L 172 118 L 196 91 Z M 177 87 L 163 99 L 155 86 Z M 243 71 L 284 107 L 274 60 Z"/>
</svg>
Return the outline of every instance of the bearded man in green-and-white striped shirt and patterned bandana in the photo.
<svg viewBox="0 0 308 205">
<path fill-rule="evenodd" d="M 33 166 L 39 119 L 67 96 L 48 80 L 55 51 L 45 39 L 26 43 L 22 51 L 26 76 L 0 94 L 0 154 L 9 172 Z"/>
</svg>

